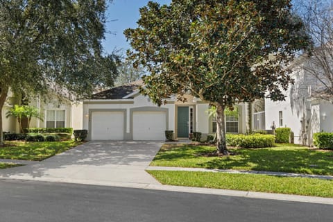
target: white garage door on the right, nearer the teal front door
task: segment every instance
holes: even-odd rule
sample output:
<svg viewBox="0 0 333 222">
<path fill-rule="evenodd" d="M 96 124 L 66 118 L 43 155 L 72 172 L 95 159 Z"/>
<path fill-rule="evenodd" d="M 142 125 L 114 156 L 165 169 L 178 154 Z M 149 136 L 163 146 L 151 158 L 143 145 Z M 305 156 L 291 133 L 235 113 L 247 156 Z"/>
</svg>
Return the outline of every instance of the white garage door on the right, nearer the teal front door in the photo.
<svg viewBox="0 0 333 222">
<path fill-rule="evenodd" d="M 133 112 L 134 140 L 164 140 L 165 112 Z"/>
</svg>

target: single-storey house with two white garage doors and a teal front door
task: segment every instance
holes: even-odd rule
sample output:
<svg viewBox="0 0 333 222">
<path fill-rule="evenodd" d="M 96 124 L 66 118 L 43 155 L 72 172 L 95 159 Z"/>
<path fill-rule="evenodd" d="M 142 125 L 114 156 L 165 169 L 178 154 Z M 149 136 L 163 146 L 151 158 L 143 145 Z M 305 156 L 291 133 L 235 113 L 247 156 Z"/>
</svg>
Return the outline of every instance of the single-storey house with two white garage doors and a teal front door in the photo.
<svg viewBox="0 0 333 222">
<path fill-rule="evenodd" d="M 187 95 L 185 103 L 176 96 L 158 107 L 139 94 L 142 81 L 113 87 L 83 101 L 83 128 L 87 139 L 164 140 L 165 130 L 173 130 L 174 138 L 189 138 L 193 132 L 205 135 L 216 131 L 209 105 Z M 246 133 L 246 105 L 237 105 L 239 117 L 226 117 L 228 133 Z"/>
</svg>

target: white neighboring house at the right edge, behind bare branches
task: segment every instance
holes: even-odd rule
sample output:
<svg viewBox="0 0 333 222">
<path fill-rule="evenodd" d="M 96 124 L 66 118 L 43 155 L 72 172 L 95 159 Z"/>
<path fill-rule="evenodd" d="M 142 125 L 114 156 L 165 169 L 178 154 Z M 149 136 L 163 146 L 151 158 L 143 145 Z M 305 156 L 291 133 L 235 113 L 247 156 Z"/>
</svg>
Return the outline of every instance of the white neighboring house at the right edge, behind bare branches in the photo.
<svg viewBox="0 0 333 222">
<path fill-rule="evenodd" d="M 333 105 L 312 93 L 321 83 L 307 71 L 309 62 L 308 58 L 300 57 L 291 66 L 295 83 L 285 92 L 285 101 L 265 99 L 266 129 L 271 129 L 273 124 L 277 128 L 289 127 L 294 133 L 294 142 L 308 146 L 313 144 L 314 133 L 333 131 Z"/>
</svg>

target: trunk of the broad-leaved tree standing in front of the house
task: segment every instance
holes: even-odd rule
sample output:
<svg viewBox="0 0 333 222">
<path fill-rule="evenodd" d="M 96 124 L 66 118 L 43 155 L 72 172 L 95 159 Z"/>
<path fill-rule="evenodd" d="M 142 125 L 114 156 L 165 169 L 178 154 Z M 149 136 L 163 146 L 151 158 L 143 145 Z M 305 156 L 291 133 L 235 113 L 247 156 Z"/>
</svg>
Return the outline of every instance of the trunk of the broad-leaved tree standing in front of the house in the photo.
<svg viewBox="0 0 333 222">
<path fill-rule="evenodd" d="M 225 107 L 221 104 L 216 104 L 216 133 L 217 133 L 217 143 L 216 149 L 217 153 L 223 155 L 229 155 L 227 150 L 227 143 L 225 141 L 225 119 L 224 119 Z"/>
</svg>

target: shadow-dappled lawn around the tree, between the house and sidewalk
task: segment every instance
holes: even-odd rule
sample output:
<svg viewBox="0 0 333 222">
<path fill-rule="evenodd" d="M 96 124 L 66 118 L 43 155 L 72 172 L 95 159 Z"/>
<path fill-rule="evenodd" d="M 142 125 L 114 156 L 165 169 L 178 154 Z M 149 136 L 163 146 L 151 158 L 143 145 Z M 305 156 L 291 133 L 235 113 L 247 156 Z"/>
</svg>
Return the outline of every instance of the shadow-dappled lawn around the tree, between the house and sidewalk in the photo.
<svg viewBox="0 0 333 222">
<path fill-rule="evenodd" d="M 273 148 L 233 148 L 235 155 L 205 157 L 214 146 L 165 144 L 151 166 L 198 167 L 206 169 L 242 169 L 333 175 L 333 151 L 311 150 L 294 144 L 278 144 Z"/>
</svg>

